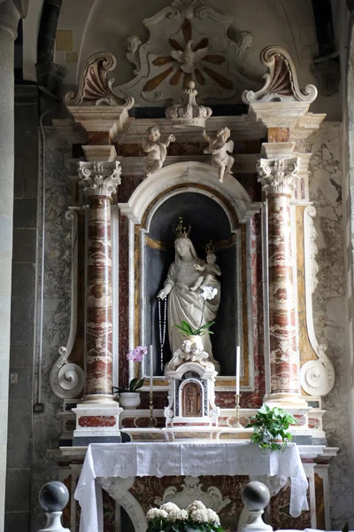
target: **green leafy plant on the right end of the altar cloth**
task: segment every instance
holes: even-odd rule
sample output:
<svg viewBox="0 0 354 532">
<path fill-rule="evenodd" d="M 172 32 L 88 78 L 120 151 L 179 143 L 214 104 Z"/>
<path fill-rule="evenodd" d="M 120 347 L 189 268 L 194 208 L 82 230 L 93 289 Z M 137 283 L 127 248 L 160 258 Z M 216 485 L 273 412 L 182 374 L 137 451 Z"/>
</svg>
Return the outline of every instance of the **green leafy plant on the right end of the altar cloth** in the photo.
<svg viewBox="0 0 354 532">
<path fill-rule="evenodd" d="M 246 428 L 253 428 L 251 442 L 258 443 L 259 447 L 267 452 L 285 450 L 287 443 L 292 440 L 288 430 L 290 425 L 296 425 L 296 419 L 292 414 L 281 408 L 269 408 L 264 404 L 256 416 L 250 419 Z"/>
</svg>

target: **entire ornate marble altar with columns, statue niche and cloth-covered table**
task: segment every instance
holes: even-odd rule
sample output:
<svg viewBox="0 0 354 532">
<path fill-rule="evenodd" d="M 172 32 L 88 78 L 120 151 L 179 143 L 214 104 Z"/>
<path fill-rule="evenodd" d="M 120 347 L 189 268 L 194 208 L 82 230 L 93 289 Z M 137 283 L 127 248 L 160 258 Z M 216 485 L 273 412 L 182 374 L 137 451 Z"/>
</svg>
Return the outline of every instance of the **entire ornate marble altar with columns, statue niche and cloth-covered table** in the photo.
<svg viewBox="0 0 354 532">
<path fill-rule="evenodd" d="M 144 21 L 150 40 L 129 52 L 141 70 L 152 47 L 154 75 L 113 88 L 116 59 L 97 52 L 65 96 L 70 118 L 53 121 L 73 141 L 71 327 L 50 372 L 63 400 L 56 459 L 71 526 L 74 492 L 85 532 L 120 520 L 144 532 L 153 493 L 162 501 L 198 486 L 218 494 L 231 530 L 242 514 L 232 497 L 257 476 L 268 479 L 274 527 L 330 528 L 337 448 L 327 446 L 322 397 L 335 372 L 313 325 L 309 192 L 309 138 L 325 115 L 310 112 L 317 89 L 299 87 L 288 51 L 267 46 L 255 84 L 238 70 L 242 39 L 226 37 L 227 18 L 202 0 L 171 9 Z M 218 43 L 204 36 L 211 21 Z M 219 69 L 204 82 L 192 34 Z M 167 82 L 157 70 L 182 58 L 180 41 L 190 75 L 167 69 Z M 283 454 L 250 445 L 246 426 L 263 404 L 295 418 L 296 445 Z M 139 502 L 143 490 L 150 498 Z"/>
</svg>

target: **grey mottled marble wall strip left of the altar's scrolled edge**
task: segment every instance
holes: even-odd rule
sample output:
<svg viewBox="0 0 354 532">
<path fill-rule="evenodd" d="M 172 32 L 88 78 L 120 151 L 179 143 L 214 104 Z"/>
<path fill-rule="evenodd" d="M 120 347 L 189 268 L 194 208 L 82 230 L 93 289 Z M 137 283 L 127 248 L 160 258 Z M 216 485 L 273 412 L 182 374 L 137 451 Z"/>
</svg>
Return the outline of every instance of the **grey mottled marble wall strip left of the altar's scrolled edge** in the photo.
<svg viewBox="0 0 354 532">
<path fill-rule="evenodd" d="M 71 184 L 65 160 L 71 148 L 62 142 L 52 128 L 45 128 L 46 136 L 46 216 L 45 216 L 45 273 L 42 337 L 42 404 L 44 410 L 34 416 L 32 530 L 43 526 L 43 511 L 38 493 L 48 481 L 58 480 L 58 466 L 52 458 L 58 452 L 61 421 L 58 413 L 63 401 L 50 388 L 50 371 L 58 359 L 58 348 L 65 345 L 70 325 L 70 225 L 65 212 L 71 204 Z M 37 354 L 38 355 L 38 354 Z M 38 357 L 35 368 L 38 368 Z M 38 393 L 38 372 L 35 372 L 35 393 Z"/>
</svg>

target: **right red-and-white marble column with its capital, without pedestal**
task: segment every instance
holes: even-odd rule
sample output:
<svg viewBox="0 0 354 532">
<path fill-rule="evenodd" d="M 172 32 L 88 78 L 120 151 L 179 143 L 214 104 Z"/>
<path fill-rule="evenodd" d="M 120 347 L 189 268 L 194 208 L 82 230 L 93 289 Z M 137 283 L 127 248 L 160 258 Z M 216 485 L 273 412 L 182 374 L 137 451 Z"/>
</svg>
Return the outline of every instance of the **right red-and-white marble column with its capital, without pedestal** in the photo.
<svg viewBox="0 0 354 532">
<path fill-rule="evenodd" d="M 266 402 L 301 402 L 291 242 L 290 198 L 299 160 L 261 159 L 258 181 L 268 202 L 269 345 L 271 382 Z"/>
</svg>

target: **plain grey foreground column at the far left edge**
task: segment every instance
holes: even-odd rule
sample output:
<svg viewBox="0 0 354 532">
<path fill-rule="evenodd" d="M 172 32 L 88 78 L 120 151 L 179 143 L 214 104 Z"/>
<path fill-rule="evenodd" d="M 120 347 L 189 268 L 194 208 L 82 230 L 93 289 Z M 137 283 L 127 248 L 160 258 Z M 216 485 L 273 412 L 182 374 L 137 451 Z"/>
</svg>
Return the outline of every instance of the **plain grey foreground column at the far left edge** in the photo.
<svg viewBox="0 0 354 532">
<path fill-rule="evenodd" d="M 4 530 L 12 286 L 13 53 L 19 19 L 26 13 L 26 2 L 0 2 L 0 530 Z"/>
</svg>

